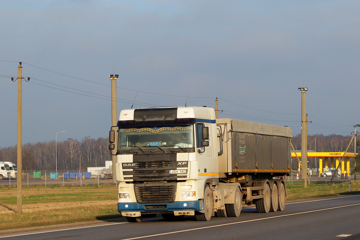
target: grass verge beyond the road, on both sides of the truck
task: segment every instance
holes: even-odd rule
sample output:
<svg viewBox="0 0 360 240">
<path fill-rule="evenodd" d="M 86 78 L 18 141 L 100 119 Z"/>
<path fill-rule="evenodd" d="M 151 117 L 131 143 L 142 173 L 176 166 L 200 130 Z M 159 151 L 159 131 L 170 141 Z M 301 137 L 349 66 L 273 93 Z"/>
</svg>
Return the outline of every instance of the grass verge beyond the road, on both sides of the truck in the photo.
<svg viewBox="0 0 360 240">
<path fill-rule="evenodd" d="M 288 201 L 349 194 L 348 182 L 287 183 Z M 360 180 L 351 182 L 351 194 L 360 193 Z M 22 214 L 17 214 L 17 190 L 0 186 L 0 234 L 4 230 L 120 218 L 117 186 L 29 186 L 22 189 Z"/>
</svg>

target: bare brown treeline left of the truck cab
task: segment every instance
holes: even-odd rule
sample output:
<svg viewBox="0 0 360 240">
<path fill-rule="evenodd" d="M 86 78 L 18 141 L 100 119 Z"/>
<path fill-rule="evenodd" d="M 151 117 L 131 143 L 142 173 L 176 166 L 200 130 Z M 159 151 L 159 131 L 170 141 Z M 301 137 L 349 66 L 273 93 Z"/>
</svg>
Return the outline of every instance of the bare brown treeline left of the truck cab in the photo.
<svg viewBox="0 0 360 240">
<path fill-rule="evenodd" d="M 87 167 L 103 167 L 105 161 L 112 159 L 108 145 L 107 138 L 89 136 L 81 141 L 69 138 L 57 144 L 55 141 L 27 143 L 22 149 L 23 171 L 54 171 L 56 162 L 58 172 L 79 171 L 80 164 L 82 172 L 86 172 Z M 0 161 L 17 163 L 17 146 L 1 148 Z"/>
</svg>

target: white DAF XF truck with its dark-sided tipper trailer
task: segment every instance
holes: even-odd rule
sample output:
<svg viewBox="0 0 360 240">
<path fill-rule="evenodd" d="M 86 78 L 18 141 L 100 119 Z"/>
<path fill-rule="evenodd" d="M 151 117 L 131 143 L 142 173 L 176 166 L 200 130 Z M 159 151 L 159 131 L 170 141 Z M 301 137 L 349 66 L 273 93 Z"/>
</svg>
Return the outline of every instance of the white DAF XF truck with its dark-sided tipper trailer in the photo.
<svg viewBox="0 0 360 240">
<path fill-rule="evenodd" d="M 122 110 L 109 133 L 118 212 L 140 222 L 146 214 L 238 217 L 243 201 L 260 213 L 283 210 L 291 137 L 288 127 L 215 119 L 207 107 Z"/>
</svg>

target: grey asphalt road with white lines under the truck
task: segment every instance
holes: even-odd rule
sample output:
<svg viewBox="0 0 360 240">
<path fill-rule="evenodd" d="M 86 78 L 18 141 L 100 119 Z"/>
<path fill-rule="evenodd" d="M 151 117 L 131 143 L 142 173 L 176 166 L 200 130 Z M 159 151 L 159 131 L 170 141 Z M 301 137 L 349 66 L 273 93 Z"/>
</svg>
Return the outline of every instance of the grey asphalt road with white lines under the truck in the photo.
<svg viewBox="0 0 360 240">
<path fill-rule="evenodd" d="M 288 203 L 285 210 L 257 213 L 243 208 L 238 218 L 213 217 L 197 222 L 192 217 L 169 221 L 144 218 L 141 223 L 125 221 L 98 225 L 0 235 L 6 240 L 279 240 L 360 239 L 360 195 Z"/>
</svg>

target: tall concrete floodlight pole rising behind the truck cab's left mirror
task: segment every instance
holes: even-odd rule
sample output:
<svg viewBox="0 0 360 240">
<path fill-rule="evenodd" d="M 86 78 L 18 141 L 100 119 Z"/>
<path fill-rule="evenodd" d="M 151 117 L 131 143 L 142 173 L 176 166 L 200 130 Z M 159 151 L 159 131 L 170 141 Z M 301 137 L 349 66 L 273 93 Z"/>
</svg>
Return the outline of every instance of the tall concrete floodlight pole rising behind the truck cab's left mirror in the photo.
<svg viewBox="0 0 360 240">
<path fill-rule="evenodd" d="M 109 75 L 111 80 L 111 125 L 117 125 L 117 112 L 116 112 L 116 80 L 119 77 L 119 74 Z M 115 179 L 115 164 L 117 162 L 117 135 L 115 134 L 115 149 L 112 150 L 112 169 L 113 169 L 113 183 L 116 183 Z"/>
</svg>

